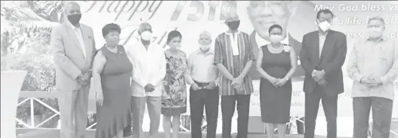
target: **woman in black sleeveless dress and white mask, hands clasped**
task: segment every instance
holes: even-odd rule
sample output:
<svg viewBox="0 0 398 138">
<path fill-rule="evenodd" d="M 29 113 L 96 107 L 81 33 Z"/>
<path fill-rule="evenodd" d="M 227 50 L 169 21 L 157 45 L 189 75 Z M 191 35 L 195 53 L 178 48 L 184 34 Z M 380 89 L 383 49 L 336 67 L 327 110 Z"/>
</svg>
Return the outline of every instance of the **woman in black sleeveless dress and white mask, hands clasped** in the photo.
<svg viewBox="0 0 398 138">
<path fill-rule="evenodd" d="M 272 25 L 268 32 L 271 44 L 261 47 L 256 60 L 261 75 L 261 120 L 266 124 L 268 137 L 272 137 L 277 124 L 279 138 L 284 138 L 290 118 L 290 78 L 296 69 L 296 54 L 289 45 L 280 43 L 284 38 L 280 25 Z"/>
</svg>

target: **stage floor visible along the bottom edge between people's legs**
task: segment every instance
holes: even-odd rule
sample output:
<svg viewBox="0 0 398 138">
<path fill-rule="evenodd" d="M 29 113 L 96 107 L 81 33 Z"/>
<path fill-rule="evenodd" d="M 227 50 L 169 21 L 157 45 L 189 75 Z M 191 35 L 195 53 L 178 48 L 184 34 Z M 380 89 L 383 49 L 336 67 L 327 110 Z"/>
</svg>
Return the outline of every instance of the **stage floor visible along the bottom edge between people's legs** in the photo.
<svg viewBox="0 0 398 138">
<path fill-rule="evenodd" d="M 94 138 L 95 131 L 88 130 L 86 138 Z M 146 133 L 146 135 L 148 135 Z M 163 138 L 164 133 L 159 133 L 155 138 Z M 203 133 L 203 137 L 206 135 Z M 232 135 L 235 137 L 235 135 Z M 267 138 L 265 134 L 250 134 L 248 137 L 250 138 Z M 278 137 L 278 135 L 274 135 L 274 138 Z M 286 135 L 286 138 L 302 138 L 303 135 Z M 25 133 L 23 135 L 19 135 L 18 138 L 59 138 L 59 130 L 35 130 L 33 132 Z M 129 137 L 133 138 L 133 137 Z M 190 133 L 180 133 L 179 138 L 190 138 Z M 217 135 L 217 138 L 221 138 L 221 134 Z M 316 136 L 315 138 L 326 138 L 325 136 Z M 349 137 L 338 137 L 338 138 L 349 138 Z"/>
</svg>

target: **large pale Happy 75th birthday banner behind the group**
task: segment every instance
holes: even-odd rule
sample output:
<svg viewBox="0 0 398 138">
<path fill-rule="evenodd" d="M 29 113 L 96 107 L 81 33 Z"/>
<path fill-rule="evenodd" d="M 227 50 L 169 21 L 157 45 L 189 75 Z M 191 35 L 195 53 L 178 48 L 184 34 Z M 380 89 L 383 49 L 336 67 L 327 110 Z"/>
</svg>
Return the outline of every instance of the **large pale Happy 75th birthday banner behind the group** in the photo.
<svg viewBox="0 0 398 138">
<path fill-rule="evenodd" d="M 316 13 L 329 9 L 335 14 L 331 30 L 343 32 L 347 36 L 348 51 L 353 42 L 366 36 L 366 23 L 373 16 L 382 16 L 386 22 L 384 35 L 398 39 L 397 1 L 77 1 L 82 10 L 81 23 L 93 28 L 96 47 L 104 45 L 102 27 L 107 23 L 117 23 L 122 27 L 120 42 L 132 47 L 138 40 L 137 27 L 148 22 L 153 27 L 153 43 L 165 47 L 166 37 L 171 30 L 182 34 L 181 49 L 190 54 L 198 49 L 199 33 L 207 30 L 212 37 L 228 30 L 223 23 L 228 10 L 236 10 L 241 19 L 239 30 L 247 34 L 267 36 L 270 25 L 283 26 L 289 34 L 289 43 L 301 47 L 302 36 L 317 29 L 314 24 Z M 270 3 L 261 7 L 261 3 Z M 298 45 L 293 45 L 298 43 Z M 295 49 L 296 50 L 296 49 Z M 298 53 L 298 51 L 296 51 Z M 347 58 L 349 57 L 347 52 Z M 346 68 L 343 66 L 344 73 Z M 345 91 L 338 100 L 339 117 L 352 117 L 352 80 L 344 75 Z M 260 116 L 258 80 L 253 80 L 255 92 L 252 94 L 250 116 Z M 302 81 L 294 82 L 291 99 L 291 116 L 304 116 L 305 98 Z M 398 99 L 395 97 L 393 117 L 398 117 Z M 189 104 L 189 103 L 188 103 Z M 189 107 L 189 105 L 188 105 Z M 221 110 L 220 110 L 221 111 Z M 189 113 L 189 110 L 188 110 Z M 221 114 L 220 114 L 221 115 Z M 324 116 L 320 106 L 320 116 Z"/>
</svg>

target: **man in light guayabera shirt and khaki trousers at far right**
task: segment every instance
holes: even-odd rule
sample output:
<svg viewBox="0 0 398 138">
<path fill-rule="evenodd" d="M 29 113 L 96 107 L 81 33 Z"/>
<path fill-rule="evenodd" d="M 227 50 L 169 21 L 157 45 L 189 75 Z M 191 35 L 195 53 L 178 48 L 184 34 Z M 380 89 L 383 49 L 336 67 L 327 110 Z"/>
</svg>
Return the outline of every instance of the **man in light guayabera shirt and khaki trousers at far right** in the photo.
<svg viewBox="0 0 398 138">
<path fill-rule="evenodd" d="M 372 108 L 372 137 L 389 137 L 394 82 L 398 76 L 398 41 L 383 36 L 384 19 L 369 19 L 368 35 L 353 45 L 347 72 L 353 79 L 354 138 L 368 137 Z"/>
</svg>

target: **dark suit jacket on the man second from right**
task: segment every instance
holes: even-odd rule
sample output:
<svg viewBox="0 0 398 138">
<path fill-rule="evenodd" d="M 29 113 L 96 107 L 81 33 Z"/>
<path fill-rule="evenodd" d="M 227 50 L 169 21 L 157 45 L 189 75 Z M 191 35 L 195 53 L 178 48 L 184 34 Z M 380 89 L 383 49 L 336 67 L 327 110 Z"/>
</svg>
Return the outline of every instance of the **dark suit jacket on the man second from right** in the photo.
<svg viewBox="0 0 398 138">
<path fill-rule="evenodd" d="M 319 56 L 319 52 L 322 52 Z M 329 30 L 322 51 L 319 47 L 318 31 L 305 34 L 302 38 L 300 51 L 301 66 L 305 69 L 303 91 L 313 93 L 318 83 L 313 80 L 313 69 L 320 68 L 325 71 L 327 84 L 323 91 L 327 95 L 338 95 L 344 91 L 342 65 L 346 58 L 346 35 L 341 32 Z"/>
</svg>

